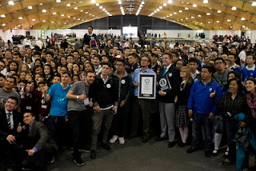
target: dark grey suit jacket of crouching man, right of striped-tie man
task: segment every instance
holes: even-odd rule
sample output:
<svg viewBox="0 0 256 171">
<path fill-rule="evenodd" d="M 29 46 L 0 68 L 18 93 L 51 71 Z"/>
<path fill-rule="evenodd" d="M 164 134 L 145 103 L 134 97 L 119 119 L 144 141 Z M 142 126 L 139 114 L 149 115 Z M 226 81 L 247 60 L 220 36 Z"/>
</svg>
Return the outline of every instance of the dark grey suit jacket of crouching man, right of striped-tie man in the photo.
<svg viewBox="0 0 256 171">
<path fill-rule="evenodd" d="M 46 125 L 41 121 L 34 121 L 31 129 L 29 125 L 27 125 L 26 137 L 26 149 L 33 149 L 35 147 L 40 150 L 44 145 L 48 144 L 58 151 L 58 145 L 52 139 Z"/>
</svg>

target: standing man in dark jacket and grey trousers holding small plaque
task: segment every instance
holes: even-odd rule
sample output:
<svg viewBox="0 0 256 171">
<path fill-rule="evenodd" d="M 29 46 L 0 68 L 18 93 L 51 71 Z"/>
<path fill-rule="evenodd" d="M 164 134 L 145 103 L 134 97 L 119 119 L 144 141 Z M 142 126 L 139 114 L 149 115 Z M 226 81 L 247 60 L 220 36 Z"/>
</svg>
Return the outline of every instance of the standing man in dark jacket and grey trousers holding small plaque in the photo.
<svg viewBox="0 0 256 171">
<path fill-rule="evenodd" d="M 159 91 L 159 112 L 160 112 L 160 123 L 162 133 L 160 137 L 155 141 L 162 141 L 169 137 L 168 147 L 171 148 L 175 145 L 175 127 L 174 127 L 174 115 L 175 115 L 175 104 L 174 98 L 178 92 L 178 87 L 181 83 L 179 76 L 179 70 L 171 65 L 172 55 L 163 54 L 162 56 L 162 68 L 160 68 L 160 74 L 158 77 Z M 168 129 L 166 129 L 168 128 Z M 167 133 L 166 133 L 166 130 Z"/>
</svg>

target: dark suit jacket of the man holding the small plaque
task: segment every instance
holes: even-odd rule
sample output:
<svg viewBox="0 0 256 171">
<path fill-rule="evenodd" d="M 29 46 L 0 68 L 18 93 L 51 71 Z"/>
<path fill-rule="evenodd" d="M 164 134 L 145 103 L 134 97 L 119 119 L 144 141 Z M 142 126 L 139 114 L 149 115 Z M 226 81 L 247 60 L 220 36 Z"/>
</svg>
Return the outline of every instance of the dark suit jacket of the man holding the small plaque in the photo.
<svg viewBox="0 0 256 171">
<path fill-rule="evenodd" d="M 166 103 L 174 103 L 174 98 L 178 92 L 179 85 L 182 82 L 181 77 L 179 76 L 179 70 L 171 65 L 166 74 L 163 76 L 164 67 L 160 68 L 160 73 L 158 76 L 158 88 L 166 92 L 166 96 L 159 96 L 158 100 Z"/>
</svg>

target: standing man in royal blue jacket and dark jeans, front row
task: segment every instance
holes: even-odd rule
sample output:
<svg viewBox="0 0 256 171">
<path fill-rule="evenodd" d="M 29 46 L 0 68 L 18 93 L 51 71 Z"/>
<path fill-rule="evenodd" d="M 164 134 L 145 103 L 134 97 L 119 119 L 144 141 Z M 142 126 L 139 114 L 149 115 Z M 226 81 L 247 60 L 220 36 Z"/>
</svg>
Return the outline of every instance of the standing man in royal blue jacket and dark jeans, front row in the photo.
<svg viewBox="0 0 256 171">
<path fill-rule="evenodd" d="M 192 147 L 186 150 L 186 153 L 193 153 L 198 151 L 198 145 L 200 141 L 200 131 L 202 125 L 205 129 L 205 156 L 211 156 L 211 124 L 214 119 L 214 114 L 218 109 L 214 105 L 214 102 L 210 99 L 210 93 L 216 92 L 216 98 L 219 100 L 222 97 L 221 86 L 218 82 L 214 81 L 211 76 L 213 69 L 210 66 L 202 67 L 201 81 L 194 82 L 194 85 L 190 89 L 190 98 L 188 101 L 187 109 L 190 117 L 193 113 L 192 124 Z"/>
</svg>

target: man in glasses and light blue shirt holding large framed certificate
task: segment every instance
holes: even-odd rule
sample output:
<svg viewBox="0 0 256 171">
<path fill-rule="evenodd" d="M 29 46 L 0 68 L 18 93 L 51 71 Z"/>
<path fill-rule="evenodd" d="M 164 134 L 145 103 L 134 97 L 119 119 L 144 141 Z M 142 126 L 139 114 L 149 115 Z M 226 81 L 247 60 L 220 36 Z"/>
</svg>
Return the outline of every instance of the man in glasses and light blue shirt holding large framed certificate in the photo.
<svg viewBox="0 0 256 171">
<path fill-rule="evenodd" d="M 139 74 L 155 74 L 153 70 L 150 70 L 151 59 L 148 56 L 143 56 L 141 60 L 141 68 L 134 70 L 134 74 L 132 76 L 132 81 L 134 83 L 134 106 L 132 113 L 132 125 L 131 125 L 131 133 L 130 137 L 136 137 L 138 134 L 138 121 L 140 120 L 140 115 L 142 114 L 142 143 L 146 143 L 150 137 L 150 102 L 151 100 L 148 98 L 138 98 L 138 89 L 142 89 L 143 92 L 148 92 L 150 90 L 148 82 L 150 79 L 145 79 L 146 82 L 143 84 L 139 84 Z M 153 80 L 153 79 L 152 79 Z M 149 81 L 150 82 L 150 81 Z M 142 87 L 144 85 L 145 87 Z M 140 87 L 139 87 L 140 86 Z M 153 88 L 151 88 L 153 89 Z"/>
</svg>

